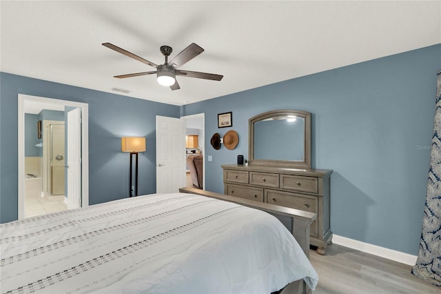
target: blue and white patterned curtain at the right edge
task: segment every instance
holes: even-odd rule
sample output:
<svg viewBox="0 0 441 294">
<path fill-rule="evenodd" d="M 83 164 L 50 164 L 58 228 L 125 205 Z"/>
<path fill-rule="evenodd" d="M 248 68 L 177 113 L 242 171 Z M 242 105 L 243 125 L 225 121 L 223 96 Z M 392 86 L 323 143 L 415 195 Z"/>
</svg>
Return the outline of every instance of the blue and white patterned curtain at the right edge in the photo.
<svg viewBox="0 0 441 294">
<path fill-rule="evenodd" d="M 441 286 L 441 70 L 437 74 L 435 121 L 422 220 L 420 251 L 412 273 Z"/>
</svg>

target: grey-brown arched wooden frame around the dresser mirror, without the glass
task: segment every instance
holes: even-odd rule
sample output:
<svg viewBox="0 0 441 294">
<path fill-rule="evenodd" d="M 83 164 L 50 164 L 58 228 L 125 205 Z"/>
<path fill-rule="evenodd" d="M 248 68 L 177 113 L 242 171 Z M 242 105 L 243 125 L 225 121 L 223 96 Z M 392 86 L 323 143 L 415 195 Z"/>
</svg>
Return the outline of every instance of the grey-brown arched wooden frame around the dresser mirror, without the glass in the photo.
<svg viewBox="0 0 441 294">
<path fill-rule="evenodd" d="M 271 160 L 254 158 L 254 124 L 263 119 L 282 115 L 295 115 L 305 119 L 305 137 L 303 138 L 304 154 L 302 161 Z M 271 110 L 248 119 L 248 157 L 249 164 L 255 166 L 277 166 L 284 168 L 311 168 L 311 113 L 302 110 Z"/>
</svg>

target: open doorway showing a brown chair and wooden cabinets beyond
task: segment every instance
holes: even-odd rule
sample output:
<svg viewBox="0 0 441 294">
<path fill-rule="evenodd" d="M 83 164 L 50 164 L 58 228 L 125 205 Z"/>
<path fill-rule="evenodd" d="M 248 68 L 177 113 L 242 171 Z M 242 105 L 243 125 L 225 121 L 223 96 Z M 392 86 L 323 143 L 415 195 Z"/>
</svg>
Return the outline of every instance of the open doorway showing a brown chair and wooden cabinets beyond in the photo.
<svg viewBox="0 0 441 294">
<path fill-rule="evenodd" d="M 186 186 L 203 189 L 205 187 L 205 114 L 187 115 L 181 119 L 185 121 Z"/>
</svg>

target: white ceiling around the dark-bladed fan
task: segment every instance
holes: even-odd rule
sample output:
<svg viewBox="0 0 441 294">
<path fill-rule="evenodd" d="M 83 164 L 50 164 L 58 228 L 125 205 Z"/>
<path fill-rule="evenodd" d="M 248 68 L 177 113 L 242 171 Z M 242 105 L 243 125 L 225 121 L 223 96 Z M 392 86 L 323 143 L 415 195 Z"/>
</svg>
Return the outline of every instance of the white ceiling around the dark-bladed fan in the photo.
<svg viewBox="0 0 441 294">
<path fill-rule="evenodd" d="M 1 1 L 0 70 L 183 105 L 441 43 L 441 1 Z M 156 64 L 159 47 L 205 49 L 178 77 L 101 46 L 110 42 Z M 112 88 L 130 90 L 128 94 Z"/>
</svg>

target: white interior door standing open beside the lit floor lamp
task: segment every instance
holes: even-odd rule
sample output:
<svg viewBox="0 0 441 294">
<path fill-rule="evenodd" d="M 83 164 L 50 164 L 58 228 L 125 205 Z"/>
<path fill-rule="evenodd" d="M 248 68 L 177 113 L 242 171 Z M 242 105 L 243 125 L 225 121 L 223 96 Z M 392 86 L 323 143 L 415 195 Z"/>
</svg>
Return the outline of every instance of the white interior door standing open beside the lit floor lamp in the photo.
<svg viewBox="0 0 441 294">
<path fill-rule="evenodd" d="M 156 193 L 185 187 L 185 121 L 156 115 Z"/>
</svg>

